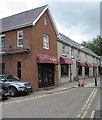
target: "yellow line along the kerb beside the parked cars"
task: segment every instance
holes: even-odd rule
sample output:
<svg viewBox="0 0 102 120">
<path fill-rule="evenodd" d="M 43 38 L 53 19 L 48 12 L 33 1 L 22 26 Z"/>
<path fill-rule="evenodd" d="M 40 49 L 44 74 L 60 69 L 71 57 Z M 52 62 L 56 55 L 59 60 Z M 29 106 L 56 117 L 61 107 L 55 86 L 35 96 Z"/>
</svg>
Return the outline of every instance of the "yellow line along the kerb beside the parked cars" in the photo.
<svg viewBox="0 0 102 120">
<path fill-rule="evenodd" d="M 12 104 L 12 103 L 20 103 L 20 102 L 29 101 L 29 100 L 38 99 L 38 98 L 43 98 L 43 97 L 47 97 L 47 96 L 51 96 L 51 95 L 62 94 L 62 93 L 65 93 L 65 92 L 68 92 L 68 91 L 72 91 L 72 90 L 75 90 L 75 89 L 77 89 L 77 88 L 72 88 L 72 89 L 68 89 L 68 90 L 64 90 L 64 91 L 56 92 L 56 93 L 52 93 L 52 94 L 35 96 L 35 97 L 27 98 L 27 99 L 21 99 L 21 100 L 15 100 L 15 101 L 11 101 L 11 102 L 5 102 L 3 104 L 7 105 L 7 104 Z"/>
</svg>

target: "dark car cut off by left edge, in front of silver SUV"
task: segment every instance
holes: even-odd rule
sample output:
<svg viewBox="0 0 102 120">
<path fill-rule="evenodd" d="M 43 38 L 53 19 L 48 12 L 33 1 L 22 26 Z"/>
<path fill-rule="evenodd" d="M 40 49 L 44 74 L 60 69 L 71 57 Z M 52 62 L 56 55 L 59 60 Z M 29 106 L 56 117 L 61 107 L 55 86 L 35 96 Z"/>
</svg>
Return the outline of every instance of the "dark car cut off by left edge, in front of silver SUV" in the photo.
<svg viewBox="0 0 102 120">
<path fill-rule="evenodd" d="M 0 82 L 0 100 L 3 100 L 9 96 L 9 87 L 7 84 Z"/>
</svg>

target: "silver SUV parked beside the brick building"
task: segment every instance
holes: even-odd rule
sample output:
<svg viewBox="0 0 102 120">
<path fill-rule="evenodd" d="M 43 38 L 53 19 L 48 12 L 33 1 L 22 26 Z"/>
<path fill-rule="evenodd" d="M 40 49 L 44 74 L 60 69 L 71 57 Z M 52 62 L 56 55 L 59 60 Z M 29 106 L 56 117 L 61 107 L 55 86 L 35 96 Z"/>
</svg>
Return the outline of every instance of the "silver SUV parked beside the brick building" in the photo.
<svg viewBox="0 0 102 120">
<path fill-rule="evenodd" d="M 17 96 L 19 93 L 32 92 L 30 82 L 21 81 L 13 75 L 0 75 L 0 81 L 9 85 L 10 96 Z"/>
</svg>

